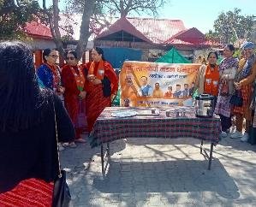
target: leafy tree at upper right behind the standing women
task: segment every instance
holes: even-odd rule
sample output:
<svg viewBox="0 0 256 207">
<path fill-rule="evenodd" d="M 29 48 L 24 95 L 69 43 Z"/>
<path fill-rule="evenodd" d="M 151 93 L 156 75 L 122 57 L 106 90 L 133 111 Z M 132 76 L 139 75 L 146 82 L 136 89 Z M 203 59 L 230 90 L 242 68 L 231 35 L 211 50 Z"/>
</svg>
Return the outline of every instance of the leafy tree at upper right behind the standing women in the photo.
<svg viewBox="0 0 256 207">
<path fill-rule="evenodd" d="M 241 9 L 222 12 L 214 21 L 214 31 L 206 33 L 206 37 L 217 39 L 222 44 L 234 44 L 238 38 L 250 39 L 253 32 L 253 15 L 240 15 Z"/>
</svg>

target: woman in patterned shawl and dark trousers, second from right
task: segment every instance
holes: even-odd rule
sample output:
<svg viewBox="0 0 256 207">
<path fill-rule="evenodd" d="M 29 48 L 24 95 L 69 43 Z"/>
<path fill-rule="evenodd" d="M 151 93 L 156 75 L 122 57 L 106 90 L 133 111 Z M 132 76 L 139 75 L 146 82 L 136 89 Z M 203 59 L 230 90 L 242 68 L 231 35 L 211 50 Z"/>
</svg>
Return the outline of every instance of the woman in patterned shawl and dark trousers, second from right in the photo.
<svg viewBox="0 0 256 207">
<path fill-rule="evenodd" d="M 238 67 L 238 59 L 233 57 L 234 52 L 235 47 L 232 44 L 227 44 L 223 50 L 225 58 L 218 66 L 220 82 L 215 113 L 219 115 L 221 119 L 222 137 L 227 137 L 229 127 L 232 126 L 231 105 L 229 100 L 233 92 L 235 73 Z"/>
</svg>

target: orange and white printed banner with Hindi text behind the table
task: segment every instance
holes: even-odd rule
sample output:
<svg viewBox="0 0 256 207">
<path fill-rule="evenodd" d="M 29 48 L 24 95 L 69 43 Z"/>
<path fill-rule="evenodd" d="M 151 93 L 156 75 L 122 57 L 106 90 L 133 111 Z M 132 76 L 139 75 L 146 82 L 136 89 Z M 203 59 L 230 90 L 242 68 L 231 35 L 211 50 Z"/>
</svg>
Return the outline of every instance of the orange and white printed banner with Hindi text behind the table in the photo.
<svg viewBox="0 0 256 207">
<path fill-rule="evenodd" d="M 121 106 L 191 106 L 200 64 L 123 62 Z"/>
</svg>

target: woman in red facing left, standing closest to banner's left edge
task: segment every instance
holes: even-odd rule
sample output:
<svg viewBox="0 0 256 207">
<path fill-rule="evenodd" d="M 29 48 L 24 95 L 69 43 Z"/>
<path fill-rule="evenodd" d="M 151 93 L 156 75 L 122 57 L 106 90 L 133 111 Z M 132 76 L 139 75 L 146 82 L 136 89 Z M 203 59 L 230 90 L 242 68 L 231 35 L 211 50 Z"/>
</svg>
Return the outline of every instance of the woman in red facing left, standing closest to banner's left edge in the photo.
<svg viewBox="0 0 256 207">
<path fill-rule="evenodd" d="M 104 59 L 102 49 L 92 49 L 92 62 L 85 65 L 86 74 L 86 118 L 88 131 L 105 107 L 111 106 L 118 90 L 118 79 L 109 62 Z"/>
</svg>

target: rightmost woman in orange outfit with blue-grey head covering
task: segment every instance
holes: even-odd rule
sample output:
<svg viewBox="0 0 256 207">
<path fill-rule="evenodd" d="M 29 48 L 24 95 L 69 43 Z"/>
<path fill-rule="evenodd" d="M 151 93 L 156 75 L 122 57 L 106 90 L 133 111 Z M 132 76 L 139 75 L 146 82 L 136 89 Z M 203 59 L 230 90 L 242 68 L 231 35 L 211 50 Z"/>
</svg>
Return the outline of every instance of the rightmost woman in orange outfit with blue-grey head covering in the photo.
<svg viewBox="0 0 256 207">
<path fill-rule="evenodd" d="M 233 111 L 235 113 L 235 125 L 236 131 L 230 135 L 230 138 L 241 138 L 241 141 L 247 142 L 249 139 L 249 130 L 251 125 L 251 110 L 250 103 L 253 95 L 253 80 L 255 77 L 255 68 L 253 63 L 256 60 L 254 55 L 254 44 L 252 42 L 246 42 L 242 45 L 244 58 L 239 62 L 238 73 L 235 75 L 235 90 L 241 92 L 242 106 L 234 106 Z M 242 122 L 246 119 L 246 131 L 242 134 Z"/>
</svg>

